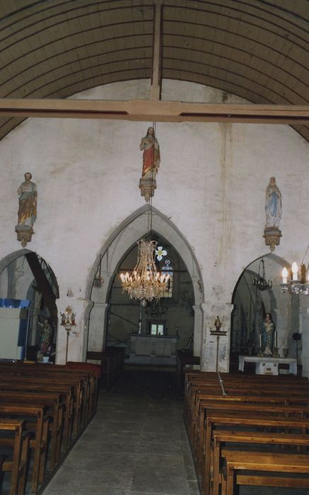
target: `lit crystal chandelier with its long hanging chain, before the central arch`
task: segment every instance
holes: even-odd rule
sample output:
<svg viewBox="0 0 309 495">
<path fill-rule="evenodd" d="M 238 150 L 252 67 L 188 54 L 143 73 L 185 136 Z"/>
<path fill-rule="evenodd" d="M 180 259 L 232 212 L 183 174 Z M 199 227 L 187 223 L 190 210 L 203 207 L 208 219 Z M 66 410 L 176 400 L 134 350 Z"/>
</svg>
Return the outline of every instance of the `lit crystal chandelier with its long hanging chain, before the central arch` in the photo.
<svg viewBox="0 0 309 495">
<path fill-rule="evenodd" d="M 156 124 L 153 122 L 154 133 Z M 155 141 L 153 139 L 153 146 Z M 153 152 L 153 160 L 155 153 Z M 150 184 L 153 185 L 153 170 L 151 168 Z M 151 240 L 152 230 L 152 196 L 148 203 L 148 236 L 137 241 L 138 252 L 137 262 L 132 274 L 120 274 L 122 281 L 122 292 L 127 292 L 132 299 L 141 300 L 141 305 L 146 306 L 147 301 L 158 301 L 167 291 L 168 274 L 158 272 L 154 262 L 154 252 L 156 251 L 157 242 Z"/>
</svg>

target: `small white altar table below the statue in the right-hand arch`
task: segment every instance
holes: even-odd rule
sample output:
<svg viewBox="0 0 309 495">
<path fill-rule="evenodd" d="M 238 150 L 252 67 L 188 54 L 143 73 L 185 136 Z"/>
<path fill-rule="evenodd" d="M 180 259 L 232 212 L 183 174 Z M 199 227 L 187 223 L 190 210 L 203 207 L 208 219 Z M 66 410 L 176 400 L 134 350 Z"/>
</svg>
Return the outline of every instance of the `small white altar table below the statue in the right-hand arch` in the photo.
<svg viewBox="0 0 309 495">
<path fill-rule="evenodd" d="M 297 361 L 294 358 L 272 358 L 270 356 L 239 356 L 239 371 L 244 371 L 245 363 L 255 363 L 256 375 L 279 375 L 279 364 L 288 364 L 288 371 L 297 375 Z"/>
</svg>

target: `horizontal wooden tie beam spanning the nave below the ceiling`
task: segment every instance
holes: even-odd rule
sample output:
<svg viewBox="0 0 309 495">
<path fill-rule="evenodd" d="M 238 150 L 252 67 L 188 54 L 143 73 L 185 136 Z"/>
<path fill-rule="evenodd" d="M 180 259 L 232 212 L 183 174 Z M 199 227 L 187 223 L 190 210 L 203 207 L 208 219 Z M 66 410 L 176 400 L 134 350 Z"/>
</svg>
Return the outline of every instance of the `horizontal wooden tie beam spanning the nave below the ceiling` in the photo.
<svg viewBox="0 0 309 495">
<path fill-rule="evenodd" d="M 238 105 L 152 100 L 0 99 L 0 117 L 308 124 L 309 105 Z"/>
</svg>

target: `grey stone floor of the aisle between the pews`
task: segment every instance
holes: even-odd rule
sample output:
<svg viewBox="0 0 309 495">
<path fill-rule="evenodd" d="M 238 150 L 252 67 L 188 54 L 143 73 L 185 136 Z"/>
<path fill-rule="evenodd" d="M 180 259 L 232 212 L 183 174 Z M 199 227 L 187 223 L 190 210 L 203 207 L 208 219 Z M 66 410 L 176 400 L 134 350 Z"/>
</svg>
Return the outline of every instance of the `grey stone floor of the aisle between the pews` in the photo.
<svg viewBox="0 0 309 495">
<path fill-rule="evenodd" d="M 199 495 L 182 421 L 183 401 L 168 372 L 126 371 L 44 495 Z M 240 495 L 308 495 L 308 489 L 240 487 Z"/>
</svg>

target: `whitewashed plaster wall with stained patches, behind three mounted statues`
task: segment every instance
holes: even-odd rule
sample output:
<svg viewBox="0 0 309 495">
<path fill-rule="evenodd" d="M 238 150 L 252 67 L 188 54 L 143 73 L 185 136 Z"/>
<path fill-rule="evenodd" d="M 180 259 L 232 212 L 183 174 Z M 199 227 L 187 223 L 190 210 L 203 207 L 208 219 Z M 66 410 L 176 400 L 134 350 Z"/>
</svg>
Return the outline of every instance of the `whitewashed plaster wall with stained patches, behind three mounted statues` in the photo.
<svg viewBox="0 0 309 495">
<path fill-rule="evenodd" d="M 74 98 L 148 98 L 149 81 L 114 83 Z M 164 100 L 243 103 L 204 86 L 164 81 Z M 86 287 L 102 246 L 119 223 L 144 204 L 139 192 L 141 136 L 151 122 L 28 119 L 0 142 L 2 180 L 0 259 L 21 248 L 14 228 L 16 190 L 30 171 L 38 189 L 35 235 L 27 248 L 44 257 L 60 288 L 59 311 L 76 311 L 78 336 L 69 359 L 82 359 L 87 341 Z M 276 254 L 301 260 L 308 243 L 308 143 L 291 127 L 272 124 L 158 123 L 161 168 L 153 205 L 192 248 L 204 286 L 202 369 L 214 369 L 214 318 L 229 330 L 231 295 L 245 267 L 268 252 L 264 194 L 276 177 L 283 197 L 283 237 Z M 68 291 L 73 296 L 67 297 Z M 85 313 L 86 312 L 86 313 Z M 59 328 L 57 361 L 64 361 Z M 228 370 L 229 336 L 221 341 L 219 369 Z M 309 354 L 309 353 L 308 353 Z M 308 370 L 309 374 L 309 370 Z"/>
</svg>

